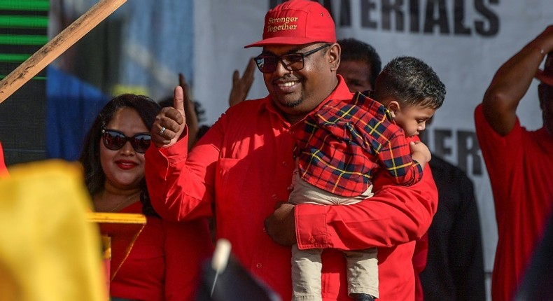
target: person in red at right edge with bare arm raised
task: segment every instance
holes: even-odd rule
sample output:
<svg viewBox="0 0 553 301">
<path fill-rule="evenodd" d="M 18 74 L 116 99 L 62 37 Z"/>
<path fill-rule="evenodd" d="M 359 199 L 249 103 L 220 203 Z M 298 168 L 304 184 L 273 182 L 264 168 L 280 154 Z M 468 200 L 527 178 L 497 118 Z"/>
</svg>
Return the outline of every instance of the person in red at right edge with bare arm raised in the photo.
<svg viewBox="0 0 553 301">
<path fill-rule="evenodd" d="M 512 300 L 553 209 L 553 25 L 498 69 L 475 110 L 476 133 L 496 208 L 493 300 Z M 545 54 L 543 71 L 538 68 Z M 528 131 L 516 111 L 534 76 L 543 126 Z"/>
</svg>

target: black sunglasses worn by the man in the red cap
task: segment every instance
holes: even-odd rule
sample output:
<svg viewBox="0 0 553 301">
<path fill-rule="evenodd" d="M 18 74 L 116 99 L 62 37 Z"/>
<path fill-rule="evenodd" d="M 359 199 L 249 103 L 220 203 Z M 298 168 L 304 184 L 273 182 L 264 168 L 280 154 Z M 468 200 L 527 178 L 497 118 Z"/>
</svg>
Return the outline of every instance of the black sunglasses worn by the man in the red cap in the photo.
<svg viewBox="0 0 553 301">
<path fill-rule="evenodd" d="M 314 54 L 318 50 L 327 48 L 330 45 L 331 44 L 327 43 L 325 45 L 322 45 L 321 47 L 309 50 L 307 52 L 287 53 L 286 55 L 281 55 L 280 57 L 277 57 L 276 55 L 260 54 L 253 59 L 255 59 L 255 64 L 258 65 L 258 69 L 262 73 L 273 73 L 276 70 L 276 66 L 279 64 L 279 62 L 282 62 L 282 66 L 284 66 L 284 69 L 288 71 L 297 71 L 303 69 L 305 57 Z"/>
</svg>

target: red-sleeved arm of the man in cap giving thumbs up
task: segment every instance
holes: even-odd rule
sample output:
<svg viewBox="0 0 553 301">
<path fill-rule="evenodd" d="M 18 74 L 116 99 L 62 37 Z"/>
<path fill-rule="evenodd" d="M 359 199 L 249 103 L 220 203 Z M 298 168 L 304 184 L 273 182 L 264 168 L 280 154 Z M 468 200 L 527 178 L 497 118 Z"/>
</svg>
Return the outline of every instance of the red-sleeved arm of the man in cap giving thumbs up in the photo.
<svg viewBox="0 0 553 301">
<path fill-rule="evenodd" d="M 155 146 L 146 151 L 146 183 L 152 205 L 170 221 L 211 216 L 211 183 L 222 135 L 221 122 L 216 123 L 206 144 L 195 146 L 189 154 L 183 97 L 182 87 L 176 87 L 174 107 L 163 108 L 155 117 L 151 130 Z"/>
</svg>

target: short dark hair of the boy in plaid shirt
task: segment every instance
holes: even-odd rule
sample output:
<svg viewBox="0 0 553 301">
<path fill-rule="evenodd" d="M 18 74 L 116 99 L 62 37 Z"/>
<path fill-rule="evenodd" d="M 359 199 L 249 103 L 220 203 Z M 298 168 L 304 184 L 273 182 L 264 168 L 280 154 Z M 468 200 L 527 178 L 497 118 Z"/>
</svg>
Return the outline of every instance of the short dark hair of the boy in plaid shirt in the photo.
<svg viewBox="0 0 553 301">
<path fill-rule="evenodd" d="M 428 64 L 416 57 L 395 57 L 380 72 L 373 98 L 394 99 L 406 106 L 438 109 L 445 98 L 445 85 Z"/>
</svg>

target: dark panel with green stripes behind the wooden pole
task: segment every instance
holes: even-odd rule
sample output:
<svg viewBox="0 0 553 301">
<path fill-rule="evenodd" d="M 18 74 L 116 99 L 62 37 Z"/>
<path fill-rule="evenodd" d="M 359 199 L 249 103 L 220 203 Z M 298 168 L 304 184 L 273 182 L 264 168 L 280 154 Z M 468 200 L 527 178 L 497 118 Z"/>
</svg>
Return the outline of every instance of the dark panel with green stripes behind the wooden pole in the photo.
<svg viewBox="0 0 553 301">
<path fill-rule="evenodd" d="M 47 41 L 48 0 L 0 1 L 0 78 Z M 6 165 L 45 158 L 45 71 L 0 104 L 0 141 Z"/>
</svg>

